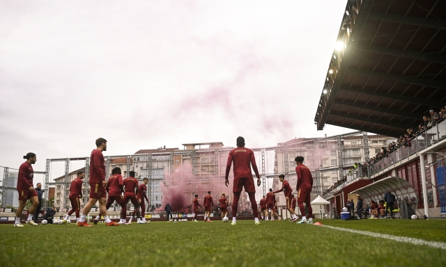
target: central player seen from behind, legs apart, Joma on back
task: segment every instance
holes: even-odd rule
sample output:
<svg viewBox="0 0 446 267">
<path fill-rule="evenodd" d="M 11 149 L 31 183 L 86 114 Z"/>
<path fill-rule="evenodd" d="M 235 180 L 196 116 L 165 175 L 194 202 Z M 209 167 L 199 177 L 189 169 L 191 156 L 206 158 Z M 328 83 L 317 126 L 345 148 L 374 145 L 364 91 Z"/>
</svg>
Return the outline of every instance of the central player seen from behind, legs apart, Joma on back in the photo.
<svg viewBox="0 0 446 267">
<path fill-rule="evenodd" d="M 248 193 L 249 201 L 251 201 L 252 211 L 254 213 L 254 223 L 260 225 L 259 222 L 259 210 L 257 209 L 256 202 L 256 187 L 254 186 L 254 178 L 252 177 L 252 169 L 256 173 L 257 186 L 260 186 L 260 175 L 259 170 L 257 170 L 256 158 L 254 157 L 254 152 L 251 149 L 245 147 L 245 138 L 239 136 L 237 138 L 237 148 L 232 149 L 229 152 L 228 162 L 226 163 L 226 175 L 224 177 L 224 184 L 228 186 L 229 184 L 229 171 L 231 170 L 231 164 L 234 163 L 234 181 L 233 181 L 233 202 L 232 202 L 232 223 L 231 225 L 236 225 L 237 223 L 237 208 L 238 200 L 240 199 L 240 193 L 242 193 L 243 187 L 245 187 L 245 192 Z"/>
</svg>

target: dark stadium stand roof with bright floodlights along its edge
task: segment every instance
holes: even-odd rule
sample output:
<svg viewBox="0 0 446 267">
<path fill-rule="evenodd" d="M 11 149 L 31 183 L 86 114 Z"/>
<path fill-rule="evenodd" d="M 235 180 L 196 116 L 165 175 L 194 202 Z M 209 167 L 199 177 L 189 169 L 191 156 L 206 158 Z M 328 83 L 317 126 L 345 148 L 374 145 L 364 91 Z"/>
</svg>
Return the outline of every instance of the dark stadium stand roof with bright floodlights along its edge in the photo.
<svg viewBox="0 0 446 267">
<path fill-rule="evenodd" d="M 314 121 L 399 136 L 446 104 L 446 1 L 349 0 Z M 332 73 L 330 73 L 332 72 Z"/>
</svg>

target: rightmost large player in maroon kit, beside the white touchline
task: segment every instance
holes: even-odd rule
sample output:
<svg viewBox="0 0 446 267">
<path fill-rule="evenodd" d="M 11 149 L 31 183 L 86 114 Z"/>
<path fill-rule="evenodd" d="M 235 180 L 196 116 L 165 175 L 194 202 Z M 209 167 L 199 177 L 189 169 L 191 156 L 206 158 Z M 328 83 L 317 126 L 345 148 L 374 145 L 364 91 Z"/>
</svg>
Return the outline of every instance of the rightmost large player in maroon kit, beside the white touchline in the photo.
<svg viewBox="0 0 446 267">
<path fill-rule="evenodd" d="M 313 223 L 313 209 L 312 205 L 310 204 L 311 199 L 309 195 L 312 193 L 313 186 L 312 172 L 310 172 L 309 168 L 303 164 L 303 156 L 296 156 L 294 160 L 297 164 L 295 167 L 295 172 L 298 175 L 298 185 L 296 186 L 296 190 L 298 191 L 298 206 L 300 213 L 302 213 L 302 220 L 300 220 L 298 223 Z M 305 217 L 304 202 L 308 209 L 308 221 L 307 217 Z"/>
</svg>

